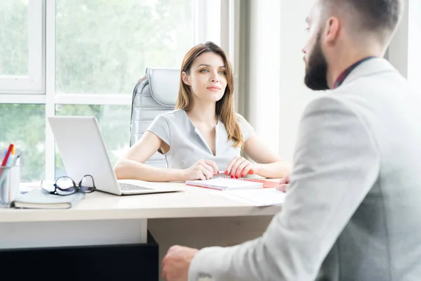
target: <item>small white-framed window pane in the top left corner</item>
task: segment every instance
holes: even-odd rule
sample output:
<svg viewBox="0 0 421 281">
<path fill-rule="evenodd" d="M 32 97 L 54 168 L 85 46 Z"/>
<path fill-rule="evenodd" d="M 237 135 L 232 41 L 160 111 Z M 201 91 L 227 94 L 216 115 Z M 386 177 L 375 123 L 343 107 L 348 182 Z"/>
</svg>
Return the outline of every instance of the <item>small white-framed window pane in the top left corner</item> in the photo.
<svg viewBox="0 0 421 281">
<path fill-rule="evenodd" d="M 41 0 L 0 1 L 0 93 L 44 91 L 42 26 Z"/>
</svg>

